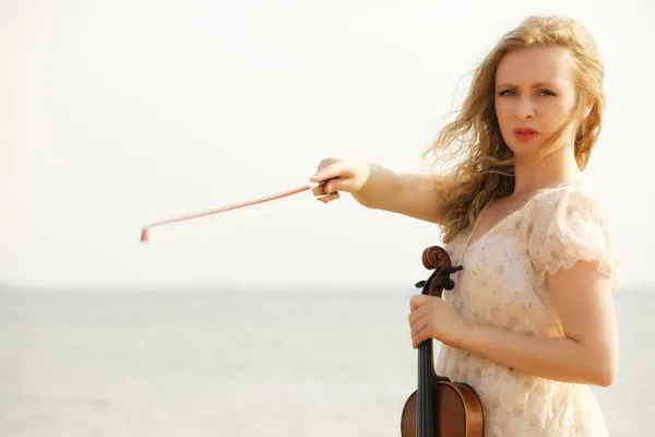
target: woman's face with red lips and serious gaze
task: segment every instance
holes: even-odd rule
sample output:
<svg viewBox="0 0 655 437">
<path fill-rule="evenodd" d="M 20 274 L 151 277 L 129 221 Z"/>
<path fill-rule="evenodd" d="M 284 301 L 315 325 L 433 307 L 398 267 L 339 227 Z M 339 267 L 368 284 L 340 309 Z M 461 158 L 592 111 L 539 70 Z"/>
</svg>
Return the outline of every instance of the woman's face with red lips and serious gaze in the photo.
<svg viewBox="0 0 655 437">
<path fill-rule="evenodd" d="M 495 105 L 500 131 L 514 156 L 537 156 L 575 106 L 573 57 L 560 47 L 508 52 L 496 72 Z M 571 143 L 576 123 L 568 132 Z M 563 145 L 563 144 L 561 144 Z"/>
</svg>

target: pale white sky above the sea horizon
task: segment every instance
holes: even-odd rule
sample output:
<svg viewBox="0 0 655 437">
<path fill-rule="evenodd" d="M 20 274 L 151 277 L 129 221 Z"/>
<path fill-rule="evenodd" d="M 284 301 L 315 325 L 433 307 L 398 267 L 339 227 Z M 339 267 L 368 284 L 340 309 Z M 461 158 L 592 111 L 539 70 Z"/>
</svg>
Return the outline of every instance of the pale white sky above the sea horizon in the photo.
<svg viewBox="0 0 655 437">
<path fill-rule="evenodd" d="M 609 4 L 608 4 L 609 3 Z M 596 38 L 608 107 L 585 177 L 627 285 L 650 265 L 655 7 L 620 1 L 0 3 L 0 281 L 408 290 L 436 225 L 309 192 L 139 241 L 152 222 L 301 186 L 325 156 L 424 170 L 467 73 L 531 14 Z"/>
</svg>

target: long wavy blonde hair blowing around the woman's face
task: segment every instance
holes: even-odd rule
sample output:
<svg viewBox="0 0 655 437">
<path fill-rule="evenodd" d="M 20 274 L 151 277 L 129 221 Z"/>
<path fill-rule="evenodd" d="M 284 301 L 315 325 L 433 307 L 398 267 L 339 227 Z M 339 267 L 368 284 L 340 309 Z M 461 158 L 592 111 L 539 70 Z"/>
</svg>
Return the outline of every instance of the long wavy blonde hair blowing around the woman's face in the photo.
<svg viewBox="0 0 655 437">
<path fill-rule="evenodd" d="M 579 126 L 575 160 L 581 170 L 600 132 L 605 109 L 603 80 L 605 68 L 590 33 L 573 19 L 531 16 L 504 34 L 473 73 L 472 84 L 462 108 L 454 114 L 434 141 L 422 153 L 436 155 L 437 163 L 455 157 L 462 161 L 448 173 L 438 174 L 434 188 L 443 199 L 442 237 L 448 243 L 477 220 L 483 208 L 514 189 L 514 157 L 502 139 L 495 110 L 495 79 L 503 56 L 515 49 L 563 47 L 573 55 L 577 104 L 569 119 L 539 151 L 541 160 L 551 153 L 557 141 L 580 119 L 587 105 L 591 111 Z M 445 160 L 443 160 L 445 158 Z"/>
</svg>

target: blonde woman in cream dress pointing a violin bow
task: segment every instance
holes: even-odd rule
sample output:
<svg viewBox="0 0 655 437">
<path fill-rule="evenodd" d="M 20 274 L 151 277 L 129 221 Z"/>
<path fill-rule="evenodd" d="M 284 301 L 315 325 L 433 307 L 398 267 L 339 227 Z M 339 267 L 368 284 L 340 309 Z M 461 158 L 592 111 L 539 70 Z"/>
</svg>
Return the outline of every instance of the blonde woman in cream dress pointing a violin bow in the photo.
<svg viewBox="0 0 655 437">
<path fill-rule="evenodd" d="M 617 373 L 612 293 L 621 283 L 604 209 L 582 178 L 596 143 L 604 67 L 572 20 L 534 16 L 475 72 L 454 121 L 426 151 L 450 173 L 398 175 L 323 160 L 314 182 L 364 206 L 438 224 L 464 270 L 444 299 L 417 295 L 413 346 L 443 343 L 438 374 L 479 394 L 486 436 L 603 436 L 588 385 Z M 458 145 L 458 147 L 455 147 Z"/>
</svg>

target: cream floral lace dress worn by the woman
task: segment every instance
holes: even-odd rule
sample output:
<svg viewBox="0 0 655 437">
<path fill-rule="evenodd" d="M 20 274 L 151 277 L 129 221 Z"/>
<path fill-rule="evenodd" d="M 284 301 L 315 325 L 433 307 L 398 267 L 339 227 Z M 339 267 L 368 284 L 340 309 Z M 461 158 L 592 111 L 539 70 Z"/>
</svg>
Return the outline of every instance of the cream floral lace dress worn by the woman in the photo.
<svg viewBox="0 0 655 437">
<path fill-rule="evenodd" d="M 539 191 L 469 244 L 475 226 L 444 245 L 454 265 L 464 270 L 451 276 L 456 286 L 443 294 L 463 317 L 477 323 L 562 335 L 545 285 L 546 271 L 570 269 L 577 260 L 596 261 L 612 293 L 622 283 L 605 210 L 583 179 Z M 446 345 L 441 346 L 436 370 L 477 391 L 485 437 L 607 435 L 586 385 L 523 375 Z"/>
</svg>

